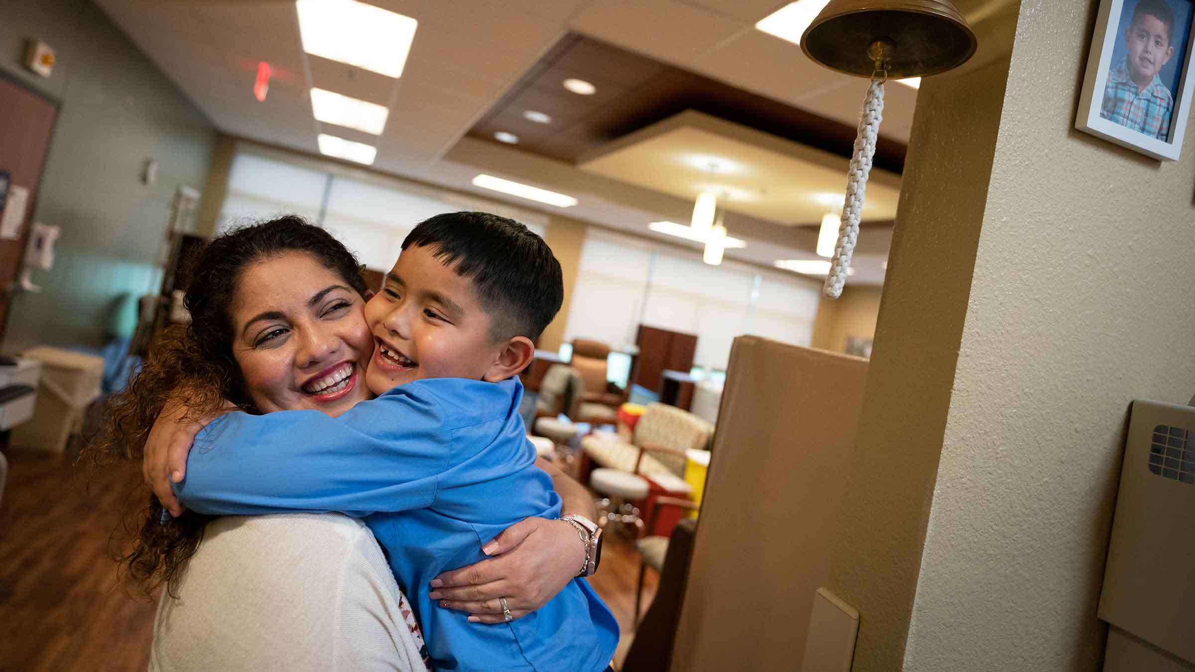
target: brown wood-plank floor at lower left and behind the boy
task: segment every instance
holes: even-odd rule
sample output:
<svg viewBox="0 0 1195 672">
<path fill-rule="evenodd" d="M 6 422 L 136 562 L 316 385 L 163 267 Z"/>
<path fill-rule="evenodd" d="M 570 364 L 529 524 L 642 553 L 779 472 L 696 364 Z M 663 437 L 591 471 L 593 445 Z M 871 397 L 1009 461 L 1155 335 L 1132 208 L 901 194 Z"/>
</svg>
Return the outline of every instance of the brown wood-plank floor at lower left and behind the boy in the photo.
<svg viewBox="0 0 1195 672">
<path fill-rule="evenodd" d="M 0 671 L 143 671 L 154 605 L 130 598 L 116 581 L 109 536 L 123 502 L 140 482 L 131 465 L 85 483 L 75 474 L 79 441 L 63 456 L 5 451 L 8 483 L 0 499 Z M 592 578 L 618 618 L 623 640 L 632 631 L 638 555 L 611 536 L 601 570 Z M 655 594 L 648 573 L 644 607 Z"/>
</svg>

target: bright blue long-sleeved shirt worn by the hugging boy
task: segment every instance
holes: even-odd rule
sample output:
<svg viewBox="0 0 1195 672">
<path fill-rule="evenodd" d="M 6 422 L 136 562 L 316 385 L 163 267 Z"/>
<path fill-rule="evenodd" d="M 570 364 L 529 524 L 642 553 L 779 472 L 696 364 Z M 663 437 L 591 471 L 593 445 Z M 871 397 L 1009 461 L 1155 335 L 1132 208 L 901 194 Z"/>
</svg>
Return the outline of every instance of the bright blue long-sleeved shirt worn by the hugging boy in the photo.
<svg viewBox="0 0 1195 672">
<path fill-rule="evenodd" d="M 179 501 L 216 515 L 338 511 L 362 520 L 413 598 L 436 670 L 605 670 L 618 623 L 584 579 L 510 623 L 468 623 L 428 597 L 439 574 L 528 518 L 558 518 L 513 378 L 416 380 L 339 417 L 228 414 L 196 438 Z"/>
</svg>

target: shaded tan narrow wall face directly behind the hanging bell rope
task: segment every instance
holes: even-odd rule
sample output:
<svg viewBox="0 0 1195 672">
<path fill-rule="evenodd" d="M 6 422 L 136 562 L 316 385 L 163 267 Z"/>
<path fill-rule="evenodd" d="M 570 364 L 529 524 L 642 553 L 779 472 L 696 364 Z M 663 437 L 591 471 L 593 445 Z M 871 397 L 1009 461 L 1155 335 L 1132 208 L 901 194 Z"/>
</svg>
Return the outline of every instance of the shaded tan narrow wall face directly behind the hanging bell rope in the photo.
<svg viewBox="0 0 1195 672">
<path fill-rule="evenodd" d="M 1007 68 L 926 79 L 918 94 L 831 568 L 860 613 L 854 672 L 901 667 Z"/>
</svg>

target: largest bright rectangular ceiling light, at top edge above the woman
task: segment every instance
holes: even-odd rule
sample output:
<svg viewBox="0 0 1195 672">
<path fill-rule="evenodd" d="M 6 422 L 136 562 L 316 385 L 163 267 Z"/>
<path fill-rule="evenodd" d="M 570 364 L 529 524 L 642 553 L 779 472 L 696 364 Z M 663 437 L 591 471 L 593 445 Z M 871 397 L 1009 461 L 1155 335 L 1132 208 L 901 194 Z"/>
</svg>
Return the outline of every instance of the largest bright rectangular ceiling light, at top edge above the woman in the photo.
<svg viewBox="0 0 1195 672">
<path fill-rule="evenodd" d="M 299 0 L 295 8 L 304 51 L 402 77 L 419 22 L 356 0 Z"/>
</svg>

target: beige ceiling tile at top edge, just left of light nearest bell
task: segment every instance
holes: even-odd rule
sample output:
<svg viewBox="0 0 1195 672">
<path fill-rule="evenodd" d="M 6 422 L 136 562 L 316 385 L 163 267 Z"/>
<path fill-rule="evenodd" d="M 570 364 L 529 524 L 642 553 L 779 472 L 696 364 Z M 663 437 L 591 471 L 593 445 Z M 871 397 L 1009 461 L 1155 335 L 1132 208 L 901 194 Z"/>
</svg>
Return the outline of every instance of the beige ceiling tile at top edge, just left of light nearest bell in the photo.
<svg viewBox="0 0 1195 672">
<path fill-rule="evenodd" d="M 743 30 L 736 22 L 673 0 L 609 0 L 588 6 L 569 22 L 572 30 L 686 65 Z"/>
</svg>

